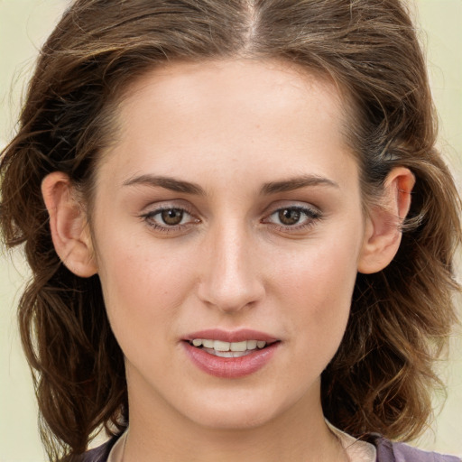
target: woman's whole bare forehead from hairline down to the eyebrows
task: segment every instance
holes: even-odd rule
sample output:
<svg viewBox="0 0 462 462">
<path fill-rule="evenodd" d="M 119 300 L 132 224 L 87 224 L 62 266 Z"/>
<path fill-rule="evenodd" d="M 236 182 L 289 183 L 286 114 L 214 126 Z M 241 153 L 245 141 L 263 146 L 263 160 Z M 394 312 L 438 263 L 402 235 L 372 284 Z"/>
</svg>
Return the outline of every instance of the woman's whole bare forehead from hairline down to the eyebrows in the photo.
<svg viewBox="0 0 462 462">
<path fill-rule="evenodd" d="M 117 141 L 105 157 L 118 171 L 136 173 L 155 164 L 188 175 L 191 162 L 209 162 L 218 176 L 245 156 L 259 171 L 271 164 L 293 175 L 300 161 L 325 175 L 349 151 L 344 106 L 331 80 L 285 62 L 172 63 L 125 89 Z"/>
</svg>

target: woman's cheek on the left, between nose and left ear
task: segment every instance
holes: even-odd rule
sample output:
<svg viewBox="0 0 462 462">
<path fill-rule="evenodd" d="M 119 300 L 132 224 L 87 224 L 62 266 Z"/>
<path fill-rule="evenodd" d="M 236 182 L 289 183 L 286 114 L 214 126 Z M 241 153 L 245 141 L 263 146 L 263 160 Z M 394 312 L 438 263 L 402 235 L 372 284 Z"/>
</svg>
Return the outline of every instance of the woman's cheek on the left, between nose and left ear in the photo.
<svg viewBox="0 0 462 462">
<path fill-rule="evenodd" d="M 125 337 L 149 331 L 143 337 L 154 347 L 156 338 L 169 335 L 168 320 L 176 316 L 191 290 L 187 255 L 171 258 L 152 243 L 126 240 L 99 250 L 99 275 L 115 337 L 123 347 Z"/>
</svg>

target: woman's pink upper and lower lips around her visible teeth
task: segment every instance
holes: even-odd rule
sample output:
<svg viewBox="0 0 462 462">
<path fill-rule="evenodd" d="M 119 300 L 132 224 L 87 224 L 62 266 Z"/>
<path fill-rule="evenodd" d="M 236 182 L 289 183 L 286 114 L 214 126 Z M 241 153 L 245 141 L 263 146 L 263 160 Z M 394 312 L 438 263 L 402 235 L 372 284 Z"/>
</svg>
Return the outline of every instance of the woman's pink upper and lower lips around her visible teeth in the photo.
<svg viewBox="0 0 462 462">
<path fill-rule="evenodd" d="M 221 357 L 211 355 L 201 348 L 190 345 L 189 342 L 194 338 L 207 338 L 223 342 L 261 340 L 269 345 L 262 349 L 256 348 L 252 353 L 245 356 Z M 274 353 L 281 345 L 281 342 L 277 338 L 252 329 L 240 329 L 236 331 L 221 329 L 200 330 L 183 338 L 181 343 L 191 362 L 199 367 L 202 372 L 226 379 L 237 379 L 256 373 L 270 362 Z"/>
</svg>

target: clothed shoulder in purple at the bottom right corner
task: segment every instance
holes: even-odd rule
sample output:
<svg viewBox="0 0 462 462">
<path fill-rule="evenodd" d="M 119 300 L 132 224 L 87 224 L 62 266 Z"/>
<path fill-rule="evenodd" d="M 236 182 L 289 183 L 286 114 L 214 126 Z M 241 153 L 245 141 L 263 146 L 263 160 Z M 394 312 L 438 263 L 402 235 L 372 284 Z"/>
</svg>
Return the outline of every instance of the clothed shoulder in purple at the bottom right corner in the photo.
<svg viewBox="0 0 462 462">
<path fill-rule="evenodd" d="M 370 435 L 367 440 L 377 448 L 377 462 L 461 462 L 459 457 L 423 451 L 405 443 L 393 443 L 376 434 Z"/>
</svg>

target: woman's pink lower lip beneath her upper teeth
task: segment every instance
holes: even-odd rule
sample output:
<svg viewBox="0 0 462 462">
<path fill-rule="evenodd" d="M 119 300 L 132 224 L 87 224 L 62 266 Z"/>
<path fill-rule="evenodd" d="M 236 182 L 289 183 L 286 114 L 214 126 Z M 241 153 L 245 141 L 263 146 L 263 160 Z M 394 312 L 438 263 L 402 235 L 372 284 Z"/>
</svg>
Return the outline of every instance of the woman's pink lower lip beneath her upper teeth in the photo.
<svg viewBox="0 0 462 462">
<path fill-rule="evenodd" d="M 275 342 L 261 350 L 256 349 L 253 353 L 240 357 L 210 355 L 201 348 L 193 347 L 189 342 L 183 342 L 183 344 L 189 358 L 201 371 L 216 377 L 236 379 L 254 374 L 268 364 L 280 342 Z"/>
</svg>

